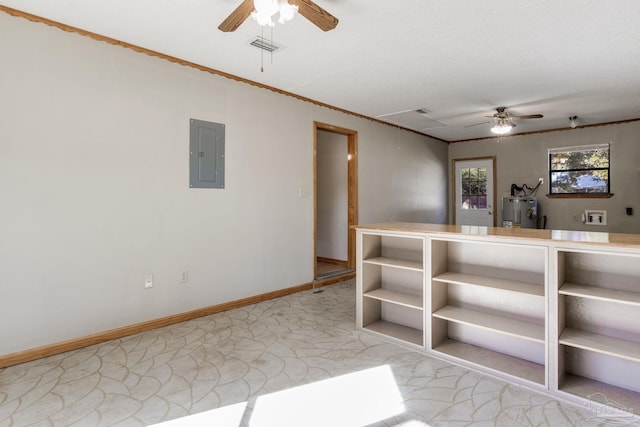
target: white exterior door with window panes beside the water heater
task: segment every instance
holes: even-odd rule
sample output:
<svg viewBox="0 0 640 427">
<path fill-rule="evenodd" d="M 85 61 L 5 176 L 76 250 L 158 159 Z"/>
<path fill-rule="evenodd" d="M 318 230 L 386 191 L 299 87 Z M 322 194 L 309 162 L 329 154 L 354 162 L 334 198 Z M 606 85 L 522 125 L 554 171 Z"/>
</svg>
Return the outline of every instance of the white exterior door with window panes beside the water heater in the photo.
<svg viewBox="0 0 640 427">
<path fill-rule="evenodd" d="M 456 225 L 495 225 L 494 161 L 494 158 L 454 160 Z"/>
</svg>

